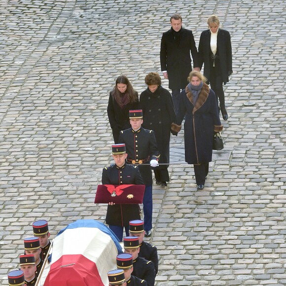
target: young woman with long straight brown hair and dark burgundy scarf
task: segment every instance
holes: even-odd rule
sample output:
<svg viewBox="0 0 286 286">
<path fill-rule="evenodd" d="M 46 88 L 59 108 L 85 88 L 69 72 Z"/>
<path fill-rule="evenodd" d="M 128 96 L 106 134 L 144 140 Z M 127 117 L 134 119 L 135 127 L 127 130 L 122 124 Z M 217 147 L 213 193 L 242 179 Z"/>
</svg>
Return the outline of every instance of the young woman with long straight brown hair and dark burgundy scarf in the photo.
<svg viewBox="0 0 286 286">
<path fill-rule="evenodd" d="M 125 75 L 119 75 L 109 94 L 107 115 L 112 129 L 114 143 L 118 143 L 119 132 L 131 127 L 129 110 L 138 109 L 138 92 L 135 91 Z"/>
</svg>

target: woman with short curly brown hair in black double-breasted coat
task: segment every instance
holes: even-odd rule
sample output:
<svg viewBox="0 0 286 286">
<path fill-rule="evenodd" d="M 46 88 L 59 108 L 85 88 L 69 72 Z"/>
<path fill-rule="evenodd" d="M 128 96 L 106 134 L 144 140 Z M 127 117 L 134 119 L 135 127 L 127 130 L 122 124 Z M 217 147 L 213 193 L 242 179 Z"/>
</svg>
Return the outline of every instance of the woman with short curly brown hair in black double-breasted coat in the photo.
<svg viewBox="0 0 286 286">
<path fill-rule="evenodd" d="M 140 108 L 143 110 L 143 128 L 153 130 L 160 152 L 159 164 L 169 163 L 170 132 L 176 113 L 170 92 L 161 86 L 161 77 L 157 72 L 145 76 L 148 86 L 140 95 Z M 159 165 L 154 169 L 157 184 L 167 186 L 170 181 L 168 165 Z"/>
</svg>

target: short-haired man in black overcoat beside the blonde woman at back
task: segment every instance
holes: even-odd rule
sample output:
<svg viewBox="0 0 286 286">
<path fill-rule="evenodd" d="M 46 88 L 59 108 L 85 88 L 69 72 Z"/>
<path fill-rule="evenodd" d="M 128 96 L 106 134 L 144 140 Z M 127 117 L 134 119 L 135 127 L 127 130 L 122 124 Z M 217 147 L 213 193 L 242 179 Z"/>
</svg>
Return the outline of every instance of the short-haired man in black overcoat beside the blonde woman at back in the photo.
<svg viewBox="0 0 286 286">
<path fill-rule="evenodd" d="M 179 105 L 179 94 L 188 84 L 188 75 L 194 70 L 200 71 L 198 50 L 192 31 L 182 28 L 182 17 L 178 14 L 171 16 L 171 29 L 163 33 L 161 39 L 160 62 L 164 78 L 169 79 L 169 88 L 175 111 Z"/>
</svg>

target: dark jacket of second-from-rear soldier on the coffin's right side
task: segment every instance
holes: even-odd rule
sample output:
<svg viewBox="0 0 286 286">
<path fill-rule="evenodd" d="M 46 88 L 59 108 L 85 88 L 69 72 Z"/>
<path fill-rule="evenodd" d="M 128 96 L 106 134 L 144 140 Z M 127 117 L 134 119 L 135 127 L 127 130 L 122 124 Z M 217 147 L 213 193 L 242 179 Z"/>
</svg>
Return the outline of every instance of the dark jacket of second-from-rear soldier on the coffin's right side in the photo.
<svg viewBox="0 0 286 286">
<path fill-rule="evenodd" d="M 156 276 L 154 263 L 138 256 L 133 260 L 132 275 L 145 280 L 148 286 L 154 286 Z"/>
</svg>

